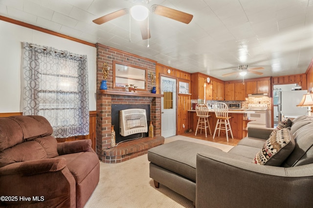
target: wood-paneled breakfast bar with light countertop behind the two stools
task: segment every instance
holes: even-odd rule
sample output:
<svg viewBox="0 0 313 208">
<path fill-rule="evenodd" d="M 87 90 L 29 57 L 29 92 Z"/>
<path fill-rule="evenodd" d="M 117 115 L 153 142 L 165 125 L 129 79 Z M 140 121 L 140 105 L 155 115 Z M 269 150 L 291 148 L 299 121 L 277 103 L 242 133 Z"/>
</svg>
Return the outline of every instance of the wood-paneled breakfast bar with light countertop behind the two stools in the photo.
<svg viewBox="0 0 313 208">
<path fill-rule="evenodd" d="M 209 109 L 208 111 L 210 115 L 209 117 L 210 128 L 213 135 L 217 119 L 213 109 Z M 234 138 L 236 139 L 242 139 L 247 134 L 247 123 L 252 121 L 246 117 L 247 113 L 254 113 L 254 111 L 249 111 L 246 109 L 228 110 L 228 116 L 231 117 L 229 119 L 231 130 L 233 132 Z M 188 114 L 190 122 L 189 126 L 191 127 L 191 130 L 195 132 L 198 122 L 196 110 L 188 110 Z M 226 136 L 225 131 L 221 131 L 221 136 Z"/>
</svg>

